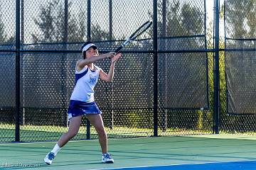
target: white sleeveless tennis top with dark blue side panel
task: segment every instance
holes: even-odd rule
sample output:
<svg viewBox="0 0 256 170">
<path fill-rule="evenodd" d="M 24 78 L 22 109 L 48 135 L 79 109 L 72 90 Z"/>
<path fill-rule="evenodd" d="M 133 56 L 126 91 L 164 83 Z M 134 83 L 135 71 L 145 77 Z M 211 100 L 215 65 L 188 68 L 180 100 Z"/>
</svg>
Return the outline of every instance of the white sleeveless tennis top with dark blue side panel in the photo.
<svg viewBox="0 0 256 170">
<path fill-rule="evenodd" d="M 95 65 L 94 65 L 95 66 Z M 70 100 L 93 102 L 94 88 L 100 76 L 100 67 L 95 66 L 95 70 L 91 70 L 85 66 L 79 72 L 75 69 L 75 88 L 71 94 Z"/>
</svg>

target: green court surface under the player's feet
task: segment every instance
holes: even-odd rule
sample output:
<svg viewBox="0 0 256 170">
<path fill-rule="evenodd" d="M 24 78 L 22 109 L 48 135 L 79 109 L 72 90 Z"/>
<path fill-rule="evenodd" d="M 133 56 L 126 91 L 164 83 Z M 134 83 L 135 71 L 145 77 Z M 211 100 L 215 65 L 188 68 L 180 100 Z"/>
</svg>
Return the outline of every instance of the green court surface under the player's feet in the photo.
<svg viewBox="0 0 256 170">
<path fill-rule="evenodd" d="M 109 151 L 114 164 L 102 164 L 98 141 L 85 140 L 68 142 L 48 166 L 43 158 L 54 145 L 55 142 L 0 144 L 0 169 L 136 169 L 256 159 L 256 137 L 238 135 L 110 139 Z"/>
</svg>

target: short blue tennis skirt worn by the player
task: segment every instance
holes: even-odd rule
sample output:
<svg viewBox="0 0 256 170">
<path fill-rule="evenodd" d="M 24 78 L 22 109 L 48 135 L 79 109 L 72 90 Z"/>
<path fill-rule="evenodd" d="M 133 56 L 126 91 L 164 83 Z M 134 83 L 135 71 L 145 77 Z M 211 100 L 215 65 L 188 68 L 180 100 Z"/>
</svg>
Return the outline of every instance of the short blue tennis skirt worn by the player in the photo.
<svg viewBox="0 0 256 170">
<path fill-rule="evenodd" d="M 87 103 L 84 101 L 70 100 L 70 106 L 68 107 L 68 119 L 78 115 L 87 114 L 101 114 L 100 108 L 95 102 Z"/>
</svg>

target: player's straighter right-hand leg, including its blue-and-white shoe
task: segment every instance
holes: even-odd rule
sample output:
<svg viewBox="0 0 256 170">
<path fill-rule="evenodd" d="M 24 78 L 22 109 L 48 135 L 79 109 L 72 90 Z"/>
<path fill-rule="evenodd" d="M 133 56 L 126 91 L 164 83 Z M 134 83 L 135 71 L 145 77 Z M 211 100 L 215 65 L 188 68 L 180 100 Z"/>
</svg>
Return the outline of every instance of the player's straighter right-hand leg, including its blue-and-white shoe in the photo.
<svg viewBox="0 0 256 170">
<path fill-rule="evenodd" d="M 103 163 L 114 163 L 111 155 L 107 153 L 107 132 L 104 128 L 102 116 L 100 114 L 88 114 L 87 119 L 94 126 L 99 136 L 100 147 L 102 148 L 102 162 Z"/>
</svg>

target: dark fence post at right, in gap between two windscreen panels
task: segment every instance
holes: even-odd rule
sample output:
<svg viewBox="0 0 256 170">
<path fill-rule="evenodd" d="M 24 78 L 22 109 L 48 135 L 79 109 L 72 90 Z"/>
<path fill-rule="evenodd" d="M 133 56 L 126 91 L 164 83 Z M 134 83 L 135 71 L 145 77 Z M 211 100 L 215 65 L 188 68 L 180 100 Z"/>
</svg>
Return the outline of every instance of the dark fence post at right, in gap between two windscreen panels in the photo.
<svg viewBox="0 0 256 170">
<path fill-rule="evenodd" d="M 214 56 L 214 105 L 213 105 L 213 120 L 214 120 L 214 132 L 219 133 L 219 121 L 220 121 L 220 70 L 219 70 L 219 22 L 220 22 L 220 2 L 215 0 L 215 56 Z"/>
</svg>

